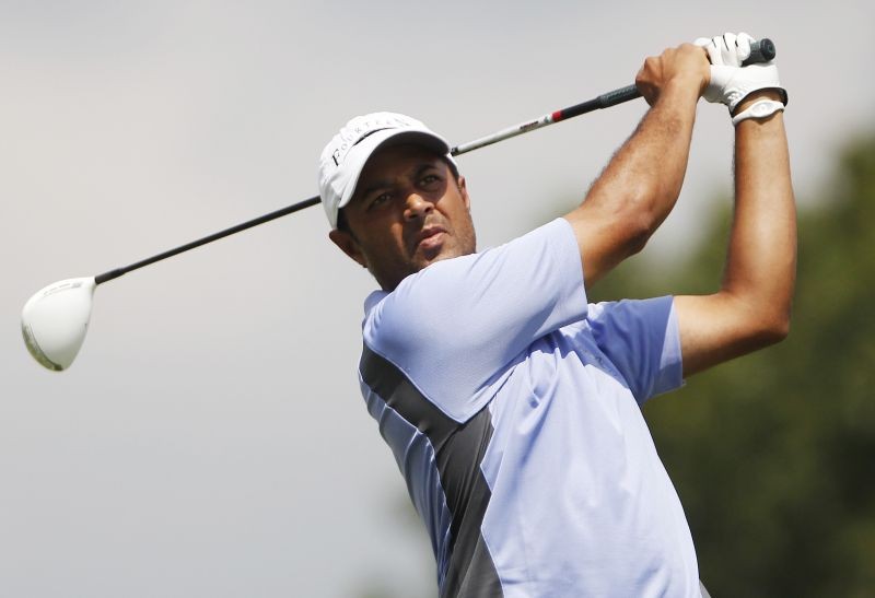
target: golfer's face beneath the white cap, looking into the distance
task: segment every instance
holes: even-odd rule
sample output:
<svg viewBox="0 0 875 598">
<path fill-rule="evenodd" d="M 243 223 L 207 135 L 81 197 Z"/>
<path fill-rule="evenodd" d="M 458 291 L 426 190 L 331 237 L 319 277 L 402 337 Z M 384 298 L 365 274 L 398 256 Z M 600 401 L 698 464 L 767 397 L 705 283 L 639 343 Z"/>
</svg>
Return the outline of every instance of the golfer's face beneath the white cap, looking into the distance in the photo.
<svg viewBox="0 0 875 598">
<path fill-rule="evenodd" d="M 343 209 L 360 257 L 384 289 L 441 259 L 474 253 L 464 178 L 419 145 L 394 145 L 368 161 Z M 349 253 L 349 251 L 347 251 Z"/>
</svg>

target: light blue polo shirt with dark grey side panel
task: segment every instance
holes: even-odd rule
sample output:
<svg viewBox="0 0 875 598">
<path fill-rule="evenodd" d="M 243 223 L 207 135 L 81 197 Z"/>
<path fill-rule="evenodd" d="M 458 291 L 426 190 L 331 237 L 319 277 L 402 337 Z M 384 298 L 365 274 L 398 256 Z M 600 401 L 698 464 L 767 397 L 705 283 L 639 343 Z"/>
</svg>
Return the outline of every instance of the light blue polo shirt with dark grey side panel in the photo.
<svg viewBox="0 0 875 598">
<path fill-rule="evenodd" d="M 558 219 L 365 301 L 368 410 L 442 597 L 699 597 L 641 404 L 681 384 L 673 298 L 587 304 Z"/>
</svg>

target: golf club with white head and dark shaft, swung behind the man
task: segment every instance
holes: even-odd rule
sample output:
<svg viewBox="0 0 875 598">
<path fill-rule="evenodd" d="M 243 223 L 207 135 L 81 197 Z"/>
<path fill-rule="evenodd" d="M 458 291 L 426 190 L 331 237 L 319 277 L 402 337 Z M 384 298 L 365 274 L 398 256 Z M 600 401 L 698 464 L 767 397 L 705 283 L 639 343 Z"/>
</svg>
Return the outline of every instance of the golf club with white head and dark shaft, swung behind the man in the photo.
<svg viewBox="0 0 875 598">
<path fill-rule="evenodd" d="M 773 59 L 774 56 L 774 44 L 770 39 L 763 38 L 759 42 L 751 43 L 750 57 L 745 60 L 744 65 L 768 62 Z M 450 153 L 454 156 L 462 155 L 528 131 L 561 122 L 593 110 L 616 106 L 637 97 L 641 97 L 638 89 L 635 89 L 634 85 L 628 85 L 602 94 L 587 102 L 553 110 L 536 119 L 527 120 L 468 143 L 456 145 L 451 149 Z M 319 203 L 319 197 L 315 196 L 129 266 L 97 274 L 96 277 L 67 279 L 49 284 L 37 291 L 22 309 L 21 327 L 22 335 L 24 336 L 24 343 L 31 352 L 31 355 L 33 355 L 40 365 L 55 372 L 67 370 L 73 363 L 73 360 L 82 347 L 82 342 L 85 340 L 85 332 L 91 318 L 94 290 L 98 284 L 103 284 L 104 282 L 143 268 L 144 266 L 155 263 L 156 261 L 167 259 L 188 251 L 189 249 L 200 247 L 201 245 L 252 228 L 258 224 L 270 222 L 271 220 L 298 212 L 317 203 Z"/>
</svg>

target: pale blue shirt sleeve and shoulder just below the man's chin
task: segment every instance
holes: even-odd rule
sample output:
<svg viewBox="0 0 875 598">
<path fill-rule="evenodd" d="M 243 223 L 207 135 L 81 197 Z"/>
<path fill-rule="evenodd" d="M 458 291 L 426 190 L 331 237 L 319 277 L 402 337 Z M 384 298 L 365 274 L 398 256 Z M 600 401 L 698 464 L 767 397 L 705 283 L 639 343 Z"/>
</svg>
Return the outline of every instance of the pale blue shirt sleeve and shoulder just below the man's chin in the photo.
<svg viewBox="0 0 875 598">
<path fill-rule="evenodd" d="M 438 261 L 371 302 L 365 344 L 467 421 L 533 341 L 586 317 L 580 249 L 557 219 L 500 247 Z"/>
</svg>

